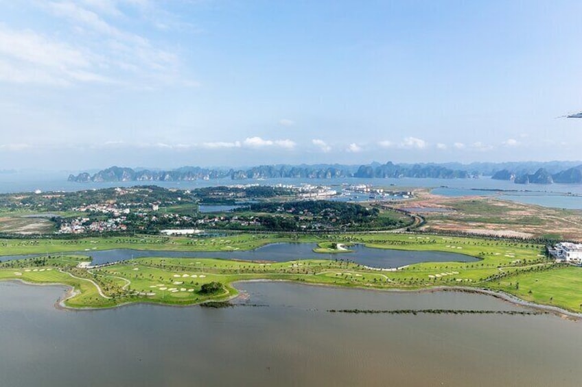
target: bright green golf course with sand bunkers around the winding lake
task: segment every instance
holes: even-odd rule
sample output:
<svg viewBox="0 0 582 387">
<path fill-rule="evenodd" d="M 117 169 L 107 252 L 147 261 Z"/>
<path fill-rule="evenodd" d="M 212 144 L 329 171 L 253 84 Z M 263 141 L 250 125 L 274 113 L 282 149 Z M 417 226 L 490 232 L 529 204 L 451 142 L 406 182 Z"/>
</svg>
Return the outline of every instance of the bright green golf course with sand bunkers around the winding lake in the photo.
<svg viewBox="0 0 582 387">
<path fill-rule="evenodd" d="M 345 253 L 338 260 L 245 262 L 207 258 L 139 258 L 97 269 L 78 267 L 86 257 L 66 251 L 114 248 L 170 251 L 253 249 L 272 242 L 318 242 L 316 252 Z M 60 283 L 77 294 L 72 308 L 104 308 L 132 302 L 190 305 L 220 301 L 237 294 L 233 282 L 248 279 L 288 280 L 309 284 L 375 289 L 418 290 L 436 286 L 471 286 L 503 290 L 536 303 L 579 311 L 582 284 L 578 267 L 548 260 L 544 247 L 528 242 L 487 238 L 453 238 L 421 234 L 363 233 L 335 236 L 232 234 L 207 238 L 138 236 L 80 240 L 2 240 L 2 252 L 39 253 L 39 258 L 0 264 L 0 279 Z M 370 269 L 347 262 L 349 247 L 362 243 L 376 249 L 444 251 L 480 258 L 478 262 L 425 262 L 399 269 Z M 56 253 L 62 253 L 61 255 Z M 46 256 L 48 255 L 48 256 Z M 42 271 L 41 271 L 42 270 Z M 220 282 L 222 291 L 202 292 L 202 285 Z M 516 287 L 516 284 L 519 286 Z"/>
</svg>

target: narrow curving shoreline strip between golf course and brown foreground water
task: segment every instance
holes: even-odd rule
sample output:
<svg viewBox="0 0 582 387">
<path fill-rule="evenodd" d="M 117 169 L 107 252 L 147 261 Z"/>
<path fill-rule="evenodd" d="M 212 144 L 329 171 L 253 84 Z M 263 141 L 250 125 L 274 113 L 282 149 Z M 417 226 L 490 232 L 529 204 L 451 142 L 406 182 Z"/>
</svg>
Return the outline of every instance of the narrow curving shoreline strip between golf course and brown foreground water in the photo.
<svg viewBox="0 0 582 387">
<path fill-rule="evenodd" d="M 500 299 L 502 301 L 506 301 L 513 305 L 523 306 L 525 308 L 532 308 L 535 310 L 541 310 L 544 312 L 550 312 L 555 316 L 559 316 L 561 318 L 568 318 L 572 321 L 582 321 L 582 313 L 572 312 L 570 310 L 566 310 L 563 308 L 559 308 L 557 306 L 552 305 L 542 305 L 538 303 L 533 303 L 531 301 L 525 301 L 509 293 L 502 292 L 499 290 L 489 290 L 485 288 L 470 288 L 467 286 L 436 286 L 434 288 L 428 289 L 377 289 L 377 288 L 362 288 L 362 287 L 347 287 L 347 286 L 338 286 L 338 285 L 331 285 L 331 284 L 311 284 L 305 282 L 298 282 L 292 281 L 290 279 L 242 279 L 240 281 L 235 281 L 231 283 L 231 287 L 234 288 L 237 292 L 236 294 L 230 295 L 226 299 L 221 300 L 207 300 L 198 303 L 189 303 L 185 305 L 176 305 L 176 304 L 168 304 L 168 303 L 158 303 L 153 301 L 128 301 L 124 303 L 119 303 L 117 305 L 105 306 L 103 308 L 94 308 L 94 307 L 86 307 L 86 308 L 73 308 L 67 306 L 65 301 L 75 295 L 78 295 L 78 291 L 75 290 L 73 286 L 61 283 L 36 283 L 36 282 L 26 282 L 23 279 L 8 279 L 6 282 L 16 282 L 23 285 L 29 286 L 57 286 L 60 288 L 65 288 L 65 293 L 57 301 L 54 303 L 54 306 L 58 310 L 65 310 L 65 311 L 96 311 L 96 310 L 110 310 L 115 308 L 127 307 L 131 305 L 154 305 L 154 306 L 163 306 L 163 307 L 170 307 L 170 308 L 190 308 L 194 306 L 200 306 L 202 303 L 212 302 L 212 301 L 231 301 L 233 299 L 237 299 L 240 297 L 240 290 L 236 288 L 236 284 L 244 283 L 244 282 L 286 282 L 290 284 L 299 284 L 305 286 L 323 286 L 327 288 L 337 288 L 337 289 L 358 289 L 358 290 L 372 290 L 377 292 L 406 292 L 406 293 L 425 293 L 425 292 L 467 292 L 467 293 L 475 293 L 479 295 L 487 295 L 490 297 L 495 297 L 496 299 Z M 226 295 L 229 295 L 229 290 L 226 289 Z"/>
</svg>

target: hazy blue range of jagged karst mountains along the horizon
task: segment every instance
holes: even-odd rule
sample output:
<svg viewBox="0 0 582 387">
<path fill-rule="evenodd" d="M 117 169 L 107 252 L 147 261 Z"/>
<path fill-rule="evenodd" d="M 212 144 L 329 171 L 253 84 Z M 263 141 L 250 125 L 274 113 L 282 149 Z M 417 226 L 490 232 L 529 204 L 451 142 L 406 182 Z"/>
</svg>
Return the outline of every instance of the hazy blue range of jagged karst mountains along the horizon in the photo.
<svg viewBox="0 0 582 387">
<path fill-rule="evenodd" d="M 183 166 L 169 171 L 111 166 L 93 175 L 86 172 L 78 175 L 69 175 L 69 182 L 176 182 L 221 178 L 242 180 L 276 178 L 336 179 L 340 177 L 467 179 L 479 177 L 480 175 L 489 175 L 493 179 L 513 179 L 515 183 L 520 184 L 582 183 L 582 165 L 574 166 L 575 164 L 573 162 L 514 162 L 499 164 L 393 164 L 393 162 L 380 164 L 373 162 L 360 166 L 277 164 L 253 166 L 245 169 Z M 530 173 L 529 171 L 531 170 L 535 170 L 535 173 Z"/>
</svg>

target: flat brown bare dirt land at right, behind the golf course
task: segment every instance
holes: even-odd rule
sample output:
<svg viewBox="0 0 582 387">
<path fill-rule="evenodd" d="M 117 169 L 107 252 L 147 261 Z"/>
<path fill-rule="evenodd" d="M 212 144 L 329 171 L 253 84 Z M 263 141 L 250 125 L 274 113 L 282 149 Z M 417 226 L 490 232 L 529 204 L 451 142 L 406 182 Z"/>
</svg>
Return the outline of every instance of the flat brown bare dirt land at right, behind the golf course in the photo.
<svg viewBox="0 0 582 387">
<path fill-rule="evenodd" d="M 580 210 L 546 208 L 495 197 L 443 197 L 428 190 L 417 190 L 415 197 L 395 207 L 414 208 L 426 219 L 426 230 L 582 240 Z"/>
</svg>

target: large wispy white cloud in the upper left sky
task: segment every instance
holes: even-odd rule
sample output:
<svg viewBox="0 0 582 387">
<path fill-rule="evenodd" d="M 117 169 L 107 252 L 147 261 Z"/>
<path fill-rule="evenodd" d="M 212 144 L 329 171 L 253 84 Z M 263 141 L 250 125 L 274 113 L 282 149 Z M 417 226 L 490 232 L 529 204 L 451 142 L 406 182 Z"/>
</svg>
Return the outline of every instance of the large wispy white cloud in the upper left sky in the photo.
<svg viewBox="0 0 582 387">
<path fill-rule="evenodd" d="M 120 7 L 121 3 L 132 10 L 122 12 L 127 7 Z M 170 45 L 141 35 L 140 12 L 151 11 L 149 1 L 36 4 L 55 19 L 56 27 L 49 32 L 42 24 L 34 25 L 36 30 L 0 24 L 0 82 L 51 86 L 107 83 L 150 89 L 199 86 L 183 73 L 180 58 L 167 49 Z"/>
</svg>

